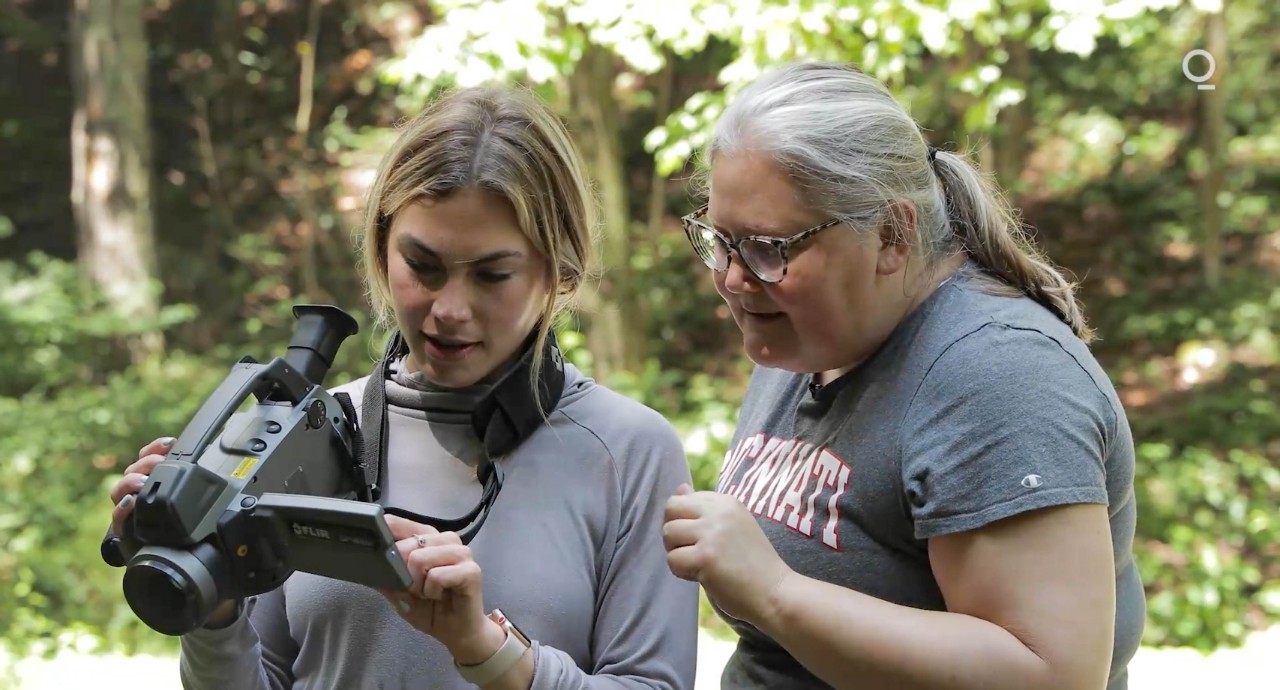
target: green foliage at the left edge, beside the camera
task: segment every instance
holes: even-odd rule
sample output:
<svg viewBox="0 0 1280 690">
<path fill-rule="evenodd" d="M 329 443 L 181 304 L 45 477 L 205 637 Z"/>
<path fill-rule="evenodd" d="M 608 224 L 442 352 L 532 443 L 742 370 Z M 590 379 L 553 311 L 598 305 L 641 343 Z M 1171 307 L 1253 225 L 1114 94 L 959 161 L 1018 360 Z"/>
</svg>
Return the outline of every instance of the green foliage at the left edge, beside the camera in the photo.
<svg viewBox="0 0 1280 690">
<path fill-rule="evenodd" d="M 74 268 L 0 262 L 0 620 L 15 650 L 52 652 L 68 626 L 125 648 L 154 646 L 97 557 L 108 489 L 151 439 L 182 429 L 220 371 L 175 353 L 127 369 L 102 355 L 140 325 L 111 315 Z M 166 311 L 165 323 L 188 310 Z M 150 328 L 156 328 L 150 325 Z"/>
</svg>

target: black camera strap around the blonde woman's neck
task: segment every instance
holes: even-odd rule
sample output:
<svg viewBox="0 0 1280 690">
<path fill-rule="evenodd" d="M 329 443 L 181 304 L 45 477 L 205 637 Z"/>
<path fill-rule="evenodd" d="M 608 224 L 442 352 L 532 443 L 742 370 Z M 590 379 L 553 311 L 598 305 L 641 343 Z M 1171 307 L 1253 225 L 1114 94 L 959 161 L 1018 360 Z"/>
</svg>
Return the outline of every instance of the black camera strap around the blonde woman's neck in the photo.
<svg viewBox="0 0 1280 690">
<path fill-rule="evenodd" d="M 547 347 L 540 353 L 532 352 L 534 338 L 535 335 L 530 335 L 516 366 L 512 366 L 492 385 L 471 413 L 471 426 L 484 447 L 477 469 L 480 483 L 484 486 L 480 503 L 467 515 L 456 518 L 431 517 L 396 507 L 384 507 L 384 512 L 430 525 L 440 531 L 457 533 L 463 544 L 468 544 L 475 538 L 489 516 L 489 511 L 498 498 L 498 492 L 502 490 L 504 475 L 502 467 L 493 458 L 509 453 L 529 438 L 545 421 L 544 413 L 550 413 L 556 408 L 564 388 L 564 360 L 556 343 L 554 333 L 548 334 Z M 381 503 L 384 495 L 381 488 L 388 481 L 387 381 L 392 376 L 392 362 L 407 353 L 408 346 L 403 337 L 399 332 L 393 333 L 387 342 L 381 360 L 374 366 L 365 385 L 360 425 L 352 434 L 356 444 L 356 471 L 357 475 L 361 475 L 357 476 L 357 480 L 364 480 L 362 501 Z M 529 385 L 534 356 L 540 356 L 543 360 L 538 376 L 536 398 Z M 348 419 L 352 422 L 355 422 L 353 412 L 355 410 L 348 411 Z"/>
</svg>

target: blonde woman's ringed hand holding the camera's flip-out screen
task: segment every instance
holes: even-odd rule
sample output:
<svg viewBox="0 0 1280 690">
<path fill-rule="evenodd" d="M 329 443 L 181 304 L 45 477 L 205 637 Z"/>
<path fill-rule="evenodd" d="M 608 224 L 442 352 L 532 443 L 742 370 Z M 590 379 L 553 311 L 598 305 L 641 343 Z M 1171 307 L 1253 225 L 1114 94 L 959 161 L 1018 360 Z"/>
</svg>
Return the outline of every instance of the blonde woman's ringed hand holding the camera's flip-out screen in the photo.
<svg viewBox="0 0 1280 690">
<path fill-rule="evenodd" d="M 383 591 L 410 625 L 435 638 L 461 664 L 481 663 L 506 641 L 502 626 L 484 612 L 480 565 L 457 533 L 388 515 L 396 548 L 413 582 Z"/>
</svg>

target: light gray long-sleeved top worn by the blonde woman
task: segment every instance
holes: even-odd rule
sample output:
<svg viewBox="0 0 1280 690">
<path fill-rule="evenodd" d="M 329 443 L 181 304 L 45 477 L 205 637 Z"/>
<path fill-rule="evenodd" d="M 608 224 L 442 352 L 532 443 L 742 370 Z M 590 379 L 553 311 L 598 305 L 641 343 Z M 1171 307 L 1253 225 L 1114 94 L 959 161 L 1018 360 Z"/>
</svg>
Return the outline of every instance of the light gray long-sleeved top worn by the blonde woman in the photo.
<svg viewBox="0 0 1280 690">
<path fill-rule="evenodd" d="M 667 567 L 667 498 L 690 481 L 657 412 L 566 366 L 548 424 L 503 458 L 471 542 L 485 608 L 534 640 L 532 690 L 690 690 L 698 585 Z M 340 385 L 361 408 L 369 379 Z M 435 517 L 480 499 L 470 402 L 397 373 L 387 383 L 388 506 Z M 296 572 L 221 630 L 182 638 L 188 690 L 463 690 L 453 661 L 375 590 Z"/>
</svg>

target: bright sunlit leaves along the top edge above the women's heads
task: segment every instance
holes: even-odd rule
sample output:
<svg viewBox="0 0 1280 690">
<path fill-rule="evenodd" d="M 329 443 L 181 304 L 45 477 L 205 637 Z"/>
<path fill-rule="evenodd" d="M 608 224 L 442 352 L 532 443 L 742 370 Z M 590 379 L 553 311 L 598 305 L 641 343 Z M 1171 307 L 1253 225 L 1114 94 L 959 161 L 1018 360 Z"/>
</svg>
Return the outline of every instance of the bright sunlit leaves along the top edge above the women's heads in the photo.
<svg viewBox="0 0 1280 690">
<path fill-rule="evenodd" d="M 439 22 L 413 41 L 403 59 L 390 63 L 387 74 L 428 84 L 547 83 L 572 72 L 584 41 L 608 47 L 628 69 L 650 74 L 662 68 L 663 51 L 687 56 L 717 40 L 732 45 L 736 56 L 719 72 L 714 91 L 732 97 L 763 69 L 786 60 L 854 61 L 891 86 L 905 87 L 906 76 L 923 69 L 925 59 L 946 59 L 955 63 L 954 90 L 974 99 L 965 106 L 963 124 L 977 134 L 995 127 L 1001 109 L 1027 97 L 1024 84 L 1002 76 L 1007 41 L 1087 56 L 1106 32 L 1128 32 L 1130 41 L 1146 36 L 1153 27 L 1149 14 L 1171 3 L 440 0 Z M 690 99 L 646 138 L 664 174 L 680 169 L 700 147 L 714 113 L 705 108 L 705 97 Z"/>
</svg>

